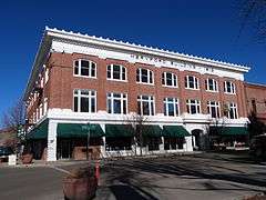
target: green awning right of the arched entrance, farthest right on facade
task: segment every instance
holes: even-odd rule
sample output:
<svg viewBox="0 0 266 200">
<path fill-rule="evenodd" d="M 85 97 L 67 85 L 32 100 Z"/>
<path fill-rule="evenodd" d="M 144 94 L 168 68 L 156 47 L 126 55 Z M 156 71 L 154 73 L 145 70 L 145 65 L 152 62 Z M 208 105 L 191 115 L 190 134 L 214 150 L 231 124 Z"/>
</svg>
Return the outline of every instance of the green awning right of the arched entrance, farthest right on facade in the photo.
<svg viewBox="0 0 266 200">
<path fill-rule="evenodd" d="M 211 134 L 219 136 L 247 136 L 246 127 L 209 127 Z"/>
</svg>

